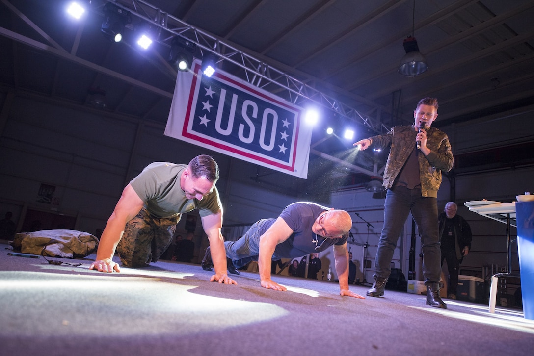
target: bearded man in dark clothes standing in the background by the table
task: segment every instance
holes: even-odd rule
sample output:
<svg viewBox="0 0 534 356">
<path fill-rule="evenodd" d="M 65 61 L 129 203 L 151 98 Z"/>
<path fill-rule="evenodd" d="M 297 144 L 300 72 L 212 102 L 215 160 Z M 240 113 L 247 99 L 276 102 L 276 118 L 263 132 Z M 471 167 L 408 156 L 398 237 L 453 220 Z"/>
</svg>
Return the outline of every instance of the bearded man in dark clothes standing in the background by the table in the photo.
<svg viewBox="0 0 534 356">
<path fill-rule="evenodd" d="M 445 211 L 439 215 L 439 241 L 441 242 L 441 264 L 447 261 L 449 270 L 449 289 L 447 298 L 456 299 L 458 288 L 458 271 L 460 263 L 471 248 L 471 228 L 467 221 L 456 215 L 458 205 L 454 202 L 445 204 Z"/>
</svg>

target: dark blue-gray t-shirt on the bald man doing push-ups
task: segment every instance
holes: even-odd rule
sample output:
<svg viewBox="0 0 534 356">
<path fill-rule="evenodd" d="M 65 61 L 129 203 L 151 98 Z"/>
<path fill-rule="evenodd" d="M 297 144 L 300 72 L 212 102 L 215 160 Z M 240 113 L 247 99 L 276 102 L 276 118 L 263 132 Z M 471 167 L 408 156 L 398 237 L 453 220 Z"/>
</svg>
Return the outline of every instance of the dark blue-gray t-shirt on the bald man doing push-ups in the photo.
<svg viewBox="0 0 534 356">
<path fill-rule="evenodd" d="M 334 244 L 342 245 L 347 242 L 348 233 L 340 239 L 326 239 L 311 231 L 315 220 L 321 212 L 326 210 L 329 210 L 329 208 L 310 202 L 297 202 L 287 205 L 284 211 L 281 212 L 280 217 L 293 230 L 293 233 L 286 241 L 276 246 L 274 254 L 281 258 L 301 257 L 324 251 Z M 274 219 L 272 222 L 274 222 Z M 317 243 L 312 242 L 312 240 L 317 240 Z"/>
</svg>

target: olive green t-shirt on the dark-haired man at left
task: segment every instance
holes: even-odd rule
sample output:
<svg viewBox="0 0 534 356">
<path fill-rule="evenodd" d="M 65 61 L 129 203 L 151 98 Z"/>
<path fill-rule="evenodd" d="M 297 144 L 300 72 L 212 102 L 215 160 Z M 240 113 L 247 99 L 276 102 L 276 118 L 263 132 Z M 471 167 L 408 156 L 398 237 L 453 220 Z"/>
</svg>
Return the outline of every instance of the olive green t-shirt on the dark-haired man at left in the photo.
<svg viewBox="0 0 534 356">
<path fill-rule="evenodd" d="M 187 164 L 154 162 L 130 181 L 150 215 L 169 218 L 199 209 L 200 216 L 204 217 L 223 210 L 216 187 L 200 201 L 185 197 L 180 177 L 186 168 Z"/>
</svg>

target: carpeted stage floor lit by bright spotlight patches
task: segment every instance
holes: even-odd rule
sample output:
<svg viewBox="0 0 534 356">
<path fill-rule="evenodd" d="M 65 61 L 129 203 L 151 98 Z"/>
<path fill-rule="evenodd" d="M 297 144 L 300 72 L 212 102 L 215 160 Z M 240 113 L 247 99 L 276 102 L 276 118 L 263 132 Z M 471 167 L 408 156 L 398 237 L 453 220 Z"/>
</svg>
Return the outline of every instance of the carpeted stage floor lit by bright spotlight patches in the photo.
<svg viewBox="0 0 534 356">
<path fill-rule="evenodd" d="M 7 249 L 6 249 L 7 248 Z M 526 355 L 534 321 L 521 311 L 386 290 L 341 297 L 339 285 L 288 276 L 280 292 L 241 272 L 209 282 L 199 265 L 158 262 L 90 271 L 94 255 L 53 265 L 0 244 L 0 355 Z M 118 260 L 117 260 L 118 262 Z M 368 287 L 351 286 L 360 295 Z"/>
</svg>

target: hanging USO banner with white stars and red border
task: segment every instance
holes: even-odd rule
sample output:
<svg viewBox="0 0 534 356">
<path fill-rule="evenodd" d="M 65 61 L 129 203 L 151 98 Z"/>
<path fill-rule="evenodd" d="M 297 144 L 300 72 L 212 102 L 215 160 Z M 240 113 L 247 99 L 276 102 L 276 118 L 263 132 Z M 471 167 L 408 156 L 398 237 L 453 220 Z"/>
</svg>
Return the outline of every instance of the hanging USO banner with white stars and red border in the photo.
<svg viewBox="0 0 534 356">
<path fill-rule="evenodd" d="M 199 61 L 178 72 L 164 135 L 288 173 L 308 177 L 311 127 L 302 108 Z"/>
</svg>

